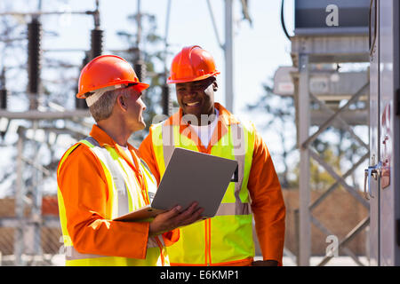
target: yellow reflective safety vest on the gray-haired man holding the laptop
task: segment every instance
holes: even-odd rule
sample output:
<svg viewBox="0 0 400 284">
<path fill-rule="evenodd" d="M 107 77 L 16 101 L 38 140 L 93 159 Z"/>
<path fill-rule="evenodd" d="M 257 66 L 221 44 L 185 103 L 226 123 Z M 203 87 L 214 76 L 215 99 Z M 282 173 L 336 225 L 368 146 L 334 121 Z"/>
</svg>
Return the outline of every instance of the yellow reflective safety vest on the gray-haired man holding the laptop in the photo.
<svg viewBox="0 0 400 284">
<path fill-rule="evenodd" d="M 75 146 L 72 146 L 66 154 L 62 157 L 60 161 L 59 170 L 61 165 L 67 159 L 68 155 L 79 146 L 79 144 L 84 144 L 88 146 L 92 153 L 95 154 L 101 163 L 101 167 L 107 178 L 108 183 L 108 213 L 106 218 L 113 219 L 115 217 L 122 216 L 129 213 L 132 209 L 138 209 L 141 206 L 147 205 L 143 196 L 140 193 L 134 193 L 135 185 L 132 185 L 132 180 L 124 177 L 125 175 L 132 172 L 128 171 L 129 166 L 124 167 L 121 162 L 119 155 L 113 156 L 115 151 L 112 147 L 102 147 L 100 144 L 92 137 L 84 138 L 84 140 L 79 141 Z M 127 163 L 126 163 L 127 165 Z M 125 168 L 125 169 L 124 169 Z M 148 196 L 154 196 L 156 193 L 156 178 L 148 170 L 148 166 L 141 161 L 140 171 L 144 175 L 144 182 L 148 189 Z M 130 185 L 131 181 L 131 185 Z M 76 248 L 73 247 L 73 243 L 68 235 L 67 230 L 67 220 L 65 214 L 64 201 L 60 189 L 58 190 L 59 195 L 59 206 L 60 206 L 60 221 L 61 229 L 63 232 L 66 264 L 67 265 L 164 265 L 169 264 L 169 259 L 165 253 L 165 244 L 162 236 L 154 236 L 148 239 L 147 244 L 147 257 L 146 259 L 134 259 L 119 256 L 100 256 L 94 254 L 81 254 Z M 136 199 L 141 199 L 138 201 L 132 201 L 132 195 Z"/>
</svg>

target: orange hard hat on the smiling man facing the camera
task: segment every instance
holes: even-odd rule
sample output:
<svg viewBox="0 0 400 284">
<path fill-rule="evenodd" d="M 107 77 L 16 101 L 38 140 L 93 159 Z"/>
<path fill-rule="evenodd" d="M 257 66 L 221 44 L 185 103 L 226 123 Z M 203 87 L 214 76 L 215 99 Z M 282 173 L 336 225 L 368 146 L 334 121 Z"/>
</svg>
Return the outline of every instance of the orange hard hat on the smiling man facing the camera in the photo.
<svg viewBox="0 0 400 284">
<path fill-rule="evenodd" d="M 199 81 L 220 72 L 215 68 L 215 62 L 208 51 L 198 45 L 184 47 L 173 59 L 171 76 L 167 83 L 185 83 Z"/>
</svg>

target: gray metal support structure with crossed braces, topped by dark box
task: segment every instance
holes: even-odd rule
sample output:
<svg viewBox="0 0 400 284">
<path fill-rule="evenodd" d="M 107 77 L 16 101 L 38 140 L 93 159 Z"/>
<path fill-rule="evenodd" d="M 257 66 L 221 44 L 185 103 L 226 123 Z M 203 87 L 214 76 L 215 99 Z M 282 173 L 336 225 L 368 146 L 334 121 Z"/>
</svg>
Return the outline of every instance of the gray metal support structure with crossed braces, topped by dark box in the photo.
<svg viewBox="0 0 400 284">
<path fill-rule="evenodd" d="M 364 140 L 358 137 L 351 125 L 368 125 L 367 111 L 357 109 L 349 110 L 348 107 L 356 104 L 358 101 L 367 101 L 369 94 L 369 78 L 365 71 L 360 74 L 353 74 L 351 81 L 350 74 L 338 73 L 332 71 L 331 75 L 327 74 L 328 80 L 325 83 L 324 91 L 316 91 L 313 89 L 313 80 L 324 77 L 316 70 L 316 64 L 332 65 L 334 63 L 366 63 L 369 62 L 368 34 L 367 27 L 364 24 L 351 26 L 346 25 L 351 22 L 351 9 L 356 10 L 360 14 L 352 10 L 356 17 L 364 20 L 365 11 L 368 12 L 369 1 L 361 1 L 356 4 L 349 4 L 346 1 L 333 1 L 340 7 L 341 26 L 329 26 L 327 13 L 328 7 L 332 4 L 329 1 L 313 2 L 310 0 L 297 0 L 295 2 L 295 36 L 290 39 L 292 41 L 292 62 L 293 67 L 290 70 L 292 83 L 294 85 L 294 101 L 296 106 L 296 125 L 298 130 L 298 147 L 300 149 L 300 176 L 299 176 L 299 265 L 309 265 L 311 256 L 311 225 L 315 225 L 325 235 L 335 235 L 334 232 L 320 222 L 314 216 L 313 210 L 319 206 L 324 199 L 332 193 L 333 190 L 341 186 L 349 194 L 351 194 L 357 202 L 361 203 L 365 209 L 369 209 L 368 201 L 364 199 L 358 188 L 349 185 L 346 178 L 350 176 L 361 163 L 368 158 L 369 147 Z M 359 6 L 357 6 L 359 5 Z M 351 8 L 351 9 L 349 9 Z M 332 9 L 335 9 L 333 7 Z M 308 12 L 314 12 L 313 17 L 308 17 Z M 328 11 L 329 12 L 329 11 Z M 345 12 L 348 15 L 345 16 Z M 308 16 L 307 16 L 308 15 Z M 334 15 L 333 15 L 334 16 Z M 350 18 L 349 18 L 350 17 Z M 311 19 L 312 18 L 312 19 Z M 332 18 L 332 17 L 331 17 Z M 330 19 L 331 19 L 330 18 Z M 368 18 L 366 18 L 368 19 Z M 319 21 L 318 21 L 319 20 Z M 325 21 L 326 20 L 326 21 Z M 332 20 L 332 19 L 331 19 Z M 354 23 L 354 22 L 353 22 Z M 319 26 L 318 26 L 319 25 Z M 364 74 L 363 74 L 364 73 Z M 336 76 L 339 81 L 336 89 L 332 87 L 332 75 Z M 356 79 L 355 79 L 356 78 Z M 319 82 L 321 83 L 321 81 Z M 354 88 L 355 86 L 356 89 Z M 353 87 L 353 89 L 352 89 Z M 349 91 L 352 90 L 352 91 Z M 344 94 L 344 96 L 343 96 Z M 340 97 L 341 96 L 341 97 Z M 346 104 L 340 105 L 340 101 L 346 99 Z M 318 129 L 310 134 L 310 127 L 318 126 Z M 333 166 L 325 162 L 321 153 L 312 146 L 313 141 L 318 138 L 324 130 L 335 127 L 340 130 L 347 131 L 348 135 L 356 141 L 359 147 L 364 148 L 365 154 L 359 161 L 355 162 L 351 168 L 340 174 L 334 170 Z M 313 159 L 319 167 L 322 167 L 335 180 L 334 184 L 327 188 L 324 193 L 311 202 L 310 200 L 310 159 Z M 363 231 L 369 225 L 369 217 L 360 220 L 359 223 L 348 234 L 339 241 L 342 251 L 350 256 L 356 264 L 362 265 L 358 257 L 347 247 L 348 242 Z M 326 255 L 318 265 L 326 264 L 332 256 Z"/>
</svg>

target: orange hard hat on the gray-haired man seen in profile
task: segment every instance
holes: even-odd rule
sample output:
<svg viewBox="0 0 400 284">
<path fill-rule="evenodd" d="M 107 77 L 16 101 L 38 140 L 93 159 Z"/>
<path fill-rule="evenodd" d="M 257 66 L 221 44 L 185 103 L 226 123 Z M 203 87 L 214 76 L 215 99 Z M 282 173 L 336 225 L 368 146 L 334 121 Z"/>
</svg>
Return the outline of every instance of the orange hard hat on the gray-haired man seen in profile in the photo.
<svg viewBox="0 0 400 284">
<path fill-rule="evenodd" d="M 132 66 L 116 55 L 100 55 L 82 69 L 76 98 L 85 99 L 87 93 L 118 84 L 133 84 L 137 91 L 148 89 L 147 83 L 140 83 Z"/>
</svg>

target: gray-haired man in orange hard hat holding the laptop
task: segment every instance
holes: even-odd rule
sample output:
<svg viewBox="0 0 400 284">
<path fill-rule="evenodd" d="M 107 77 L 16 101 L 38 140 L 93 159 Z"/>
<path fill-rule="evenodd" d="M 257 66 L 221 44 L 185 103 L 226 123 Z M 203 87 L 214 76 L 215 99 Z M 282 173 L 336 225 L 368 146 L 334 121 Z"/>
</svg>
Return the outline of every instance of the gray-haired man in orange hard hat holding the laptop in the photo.
<svg viewBox="0 0 400 284">
<path fill-rule="evenodd" d="M 114 55 L 92 59 L 81 72 L 76 96 L 86 99 L 96 124 L 57 171 L 67 265 L 167 265 L 164 247 L 179 239 L 174 229 L 200 218 L 203 209 L 193 203 L 146 222 L 113 221 L 149 204 L 156 191 L 155 177 L 127 142 L 145 127 L 140 96 L 147 88 Z"/>
</svg>

